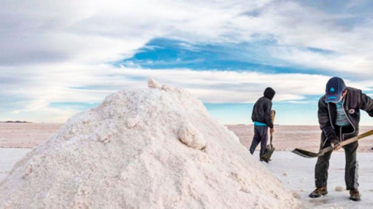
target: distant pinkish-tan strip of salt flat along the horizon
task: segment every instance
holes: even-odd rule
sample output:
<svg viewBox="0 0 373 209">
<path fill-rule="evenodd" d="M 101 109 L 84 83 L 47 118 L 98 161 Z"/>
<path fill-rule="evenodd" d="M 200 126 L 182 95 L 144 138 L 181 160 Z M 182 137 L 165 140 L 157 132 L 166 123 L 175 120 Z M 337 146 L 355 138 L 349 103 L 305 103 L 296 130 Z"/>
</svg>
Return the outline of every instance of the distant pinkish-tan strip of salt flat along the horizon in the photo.
<svg viewBox="0 0 373 209">
<path fill-rule="evenodd" d="M 32 148 L 56 133 L 61 126 L 48 123 L 0 123 L 0 147 Z M 250 146 L 253 126 L 227 125 L 227 128 L 237 135 L 244 146 Z M 371 129 L 373 127 L 360 127 L 360 133 Z M 320 145 L 320 134 L 318 126 L 276 126 L 274 144 L 277 150 L 303 148 L 316 151 Z M 371 151 L 373 137 L 363 139 L 359 144 L 359 151 Z"/>
</svg>

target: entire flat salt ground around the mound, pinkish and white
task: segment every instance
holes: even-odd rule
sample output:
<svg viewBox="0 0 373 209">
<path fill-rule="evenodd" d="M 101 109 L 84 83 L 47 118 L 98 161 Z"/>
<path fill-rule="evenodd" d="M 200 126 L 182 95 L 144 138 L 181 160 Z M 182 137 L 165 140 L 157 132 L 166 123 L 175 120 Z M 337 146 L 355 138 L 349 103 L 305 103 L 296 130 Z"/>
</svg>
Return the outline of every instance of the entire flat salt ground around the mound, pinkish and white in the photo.
<svg viewBox="0 0 373 209">
<path fill-rule="evenodd" d="M 14 163 L 22 158 L 30 148 L 46 140 L 56 133 L 62 124 L 0 124 L 0 181 L 11 170 Z M 229 125 L 241 143 L 248 147 L 252 135 L 252 126 Z M 372 127 L 362 127 L 361 133 Z M 373 128 L 372 128 L 373 129 Z M 360 142 L 359 182 L 363 194 L 362 201 L 355 203 L 348 199 L 348 191 L 337 192 L 336 186 L 345 187 L 344 166 L 345 156 L 343 150 L 332 154 L 329 168 L 329 194 L 319 198 L 310 199 L 308 194 L 314 189 L 314 165 L 316 159 L 303 158 L 291 153 L 294 147 L 316 151 L 319 146 L 320 130 L 317 126 L 277 126 L 274 144 L 277 150 L 268 167 L 280 181 L 299 196 L 302 208 L 373 208 L 373 138 L 363 139 Z M 30 148 L 14 148 L 30 147 Z M 259 159 L 258 151 L 254 157 Z"/>
</svg>

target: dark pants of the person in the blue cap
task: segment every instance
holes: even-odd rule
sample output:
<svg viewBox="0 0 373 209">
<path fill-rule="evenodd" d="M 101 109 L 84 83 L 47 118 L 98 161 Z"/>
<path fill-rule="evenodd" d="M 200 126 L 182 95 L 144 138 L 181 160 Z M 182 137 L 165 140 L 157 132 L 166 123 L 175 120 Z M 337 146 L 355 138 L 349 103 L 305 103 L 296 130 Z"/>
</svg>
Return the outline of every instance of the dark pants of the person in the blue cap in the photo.
<svg viewBox="0 0 373 209">
<path fill-rule="evenodd" d="M 336 133 L 338 136 L 342 136 L 344 133 L 351 133 L 353 131 L 352 127 L 335 127 Z M 352 131 L 351 131 L 352 130 Z M 346 139 L 344 139 L 346 140 Z M 327 146 L 330 146 L 330 141 L 326 139 L 325 136 L 321 136 L 320 149 L 323 149 Z M 353 190 L 358 189 L 358 168 L 359 164 L 356 160 L 356 150 L 358 149 L 359 143 L 355 141 L 353 143 L 343 146 L 345 149 L 346 156 L 346 166 L 345 166 L 345 182 L 346 189 Z M 327 152 L 324 155 L 318 157 L 317 163 L 315 166 L 315 184 L 317 188 L 326 187 L 328 180 L 328 168 L 329 168 L 329 159 L 332 155 L 332 152 Z"/>
</svg>

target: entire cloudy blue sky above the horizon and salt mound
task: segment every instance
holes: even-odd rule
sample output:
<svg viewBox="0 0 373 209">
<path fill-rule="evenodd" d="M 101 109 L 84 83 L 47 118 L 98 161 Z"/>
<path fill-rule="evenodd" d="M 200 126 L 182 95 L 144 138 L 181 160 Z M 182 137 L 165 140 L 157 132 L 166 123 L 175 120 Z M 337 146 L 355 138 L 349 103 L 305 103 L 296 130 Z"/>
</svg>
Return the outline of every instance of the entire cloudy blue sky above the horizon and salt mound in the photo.
<svg viewBox="0 0 373 209">
<path fill-rule="evenodd" d="M 267 86 L 281 125 L 317 125 L 332 76 L 373 95 L 369 0 L 1 2 L 0 121 L 62 123 L 149 77 L 225 124 Z"/>
</svg>

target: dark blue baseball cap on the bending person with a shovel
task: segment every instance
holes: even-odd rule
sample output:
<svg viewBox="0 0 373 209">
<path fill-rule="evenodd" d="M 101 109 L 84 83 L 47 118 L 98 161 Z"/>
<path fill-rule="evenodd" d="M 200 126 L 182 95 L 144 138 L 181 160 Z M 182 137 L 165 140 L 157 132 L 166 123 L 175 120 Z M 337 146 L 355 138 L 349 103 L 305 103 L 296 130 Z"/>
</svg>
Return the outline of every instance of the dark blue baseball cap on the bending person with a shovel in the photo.
<svg viewBox="0 0 373 209">
<path fill-rule="evenodd" d="M 326 83 L 325 102 L 338 102 L 341 100 L 343 91 L 346 90 L 345 82 L 340 77 L 332 77 Z"/>
</svg>

